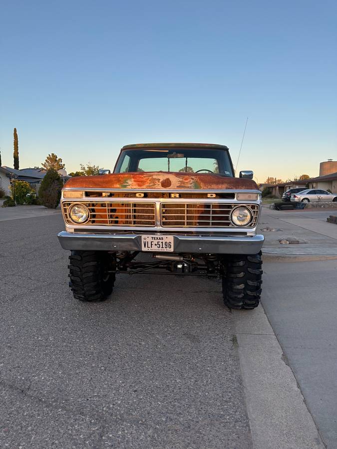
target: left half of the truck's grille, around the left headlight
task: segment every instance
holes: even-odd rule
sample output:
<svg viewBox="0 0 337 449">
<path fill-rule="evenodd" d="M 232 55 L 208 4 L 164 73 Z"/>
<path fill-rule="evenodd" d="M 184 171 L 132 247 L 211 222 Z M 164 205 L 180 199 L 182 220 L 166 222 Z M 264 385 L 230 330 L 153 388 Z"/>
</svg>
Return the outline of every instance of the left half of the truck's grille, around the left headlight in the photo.
<svg viewBox="0 0 337 449">
<path fill-rule="evenodd" d="M 155 226 L 155 203 L 93 203 L 78 202 L 89 210 L 89 218 L 84 225 L 110 225 L 110 226 Z M 74 202 L 62 203 L 64 220 L 68 225 L 74 225 L 68 215 L 68 207 Z"/>
</svg>

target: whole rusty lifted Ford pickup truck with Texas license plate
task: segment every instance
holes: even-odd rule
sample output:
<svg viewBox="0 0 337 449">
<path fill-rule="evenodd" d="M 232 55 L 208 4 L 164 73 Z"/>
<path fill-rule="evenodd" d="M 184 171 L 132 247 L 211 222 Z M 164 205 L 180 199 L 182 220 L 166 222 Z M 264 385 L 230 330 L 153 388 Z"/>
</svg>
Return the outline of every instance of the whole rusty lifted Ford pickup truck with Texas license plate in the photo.
<svg viewBox="0 0 337 449">
<path fill-rule="evenodd" d="M 253 172 L 234 177 L 226 146 L 127 145 L 104 172 L 62 189 L 58 238 L 76 299 L 104 300 L 117 274 L 162 273 L 221 278 L 225 305 L 258 306 L 261 192 Z"/>
</svg>

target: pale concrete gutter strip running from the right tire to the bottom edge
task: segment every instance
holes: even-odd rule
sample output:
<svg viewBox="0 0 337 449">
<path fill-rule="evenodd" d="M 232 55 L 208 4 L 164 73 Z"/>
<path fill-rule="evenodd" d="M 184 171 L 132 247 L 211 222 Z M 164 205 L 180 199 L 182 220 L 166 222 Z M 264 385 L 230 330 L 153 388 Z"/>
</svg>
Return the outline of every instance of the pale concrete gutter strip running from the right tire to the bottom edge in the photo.
<svg viewBox="0 0 337 449">
<path fill-rule="evenodd" d="M 253 448 L 324 449 L 262 306 L 232 314 Z"/>
</svg>

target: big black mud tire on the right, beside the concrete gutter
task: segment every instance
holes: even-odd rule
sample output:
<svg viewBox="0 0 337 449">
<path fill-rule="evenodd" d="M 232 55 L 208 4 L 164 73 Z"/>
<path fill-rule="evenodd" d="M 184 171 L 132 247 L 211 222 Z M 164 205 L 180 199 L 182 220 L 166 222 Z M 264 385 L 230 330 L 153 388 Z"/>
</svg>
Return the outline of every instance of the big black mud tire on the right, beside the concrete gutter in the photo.
<svg viewBox="0 0 337 449">
<path fill-rule="evenodd" d="M 230 309 L 254 309 L 260 303 L 261 251 L 254 255 L 232 255 L 223 260 L 222 291 Z"/>
</svg>

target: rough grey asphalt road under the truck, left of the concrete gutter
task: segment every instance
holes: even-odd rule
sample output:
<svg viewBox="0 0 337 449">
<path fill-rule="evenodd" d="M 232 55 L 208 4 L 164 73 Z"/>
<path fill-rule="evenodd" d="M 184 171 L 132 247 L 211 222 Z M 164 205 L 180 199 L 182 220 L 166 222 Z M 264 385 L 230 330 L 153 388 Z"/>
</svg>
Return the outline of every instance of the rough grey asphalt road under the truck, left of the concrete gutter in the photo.
<svg viewBox="0 0 337 449">
<path fill-rule="evenodd" d="M 251 448 L 220 282 L 68 288 L 60 215 L 0 223 L 1 448 Z"/>
</svg>

